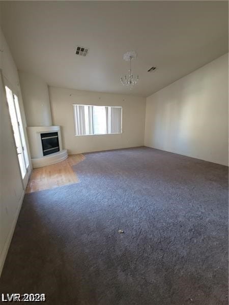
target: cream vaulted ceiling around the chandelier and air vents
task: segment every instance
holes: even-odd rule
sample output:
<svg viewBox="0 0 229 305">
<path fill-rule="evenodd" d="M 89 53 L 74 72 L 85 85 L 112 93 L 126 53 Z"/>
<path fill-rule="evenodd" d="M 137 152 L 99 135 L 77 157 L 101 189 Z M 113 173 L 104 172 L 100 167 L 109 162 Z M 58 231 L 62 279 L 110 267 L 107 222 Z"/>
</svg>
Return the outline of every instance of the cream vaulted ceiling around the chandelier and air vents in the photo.
<svg viewBox="0 0 229 305">
<path fill-rule="evenodd" d="M 147 97 L 228 52 L 227 1 L 1 1 L 1 11 L 18 69 L 53 86 Z M 120 82 L 131 50 L 132 90 Z"/>
</svg>

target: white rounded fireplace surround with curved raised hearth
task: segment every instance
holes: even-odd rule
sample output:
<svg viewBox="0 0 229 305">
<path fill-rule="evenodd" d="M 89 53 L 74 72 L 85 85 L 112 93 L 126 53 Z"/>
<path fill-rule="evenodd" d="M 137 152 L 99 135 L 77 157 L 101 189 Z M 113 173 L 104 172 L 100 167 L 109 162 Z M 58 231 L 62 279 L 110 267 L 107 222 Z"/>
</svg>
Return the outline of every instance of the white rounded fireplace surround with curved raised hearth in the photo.
<svg viewBox="0 0 229 305">
<path fill-rule="evenodd" d="M 60 151 L 43 156 L 41 133 L 48 132 L 58 132 Z M 68 158 L 67 150 L 62 148 L 60 126 L 27 127 L 27 134 L 30 143 L 33 168 L 51 165 Z"/>
</svg>

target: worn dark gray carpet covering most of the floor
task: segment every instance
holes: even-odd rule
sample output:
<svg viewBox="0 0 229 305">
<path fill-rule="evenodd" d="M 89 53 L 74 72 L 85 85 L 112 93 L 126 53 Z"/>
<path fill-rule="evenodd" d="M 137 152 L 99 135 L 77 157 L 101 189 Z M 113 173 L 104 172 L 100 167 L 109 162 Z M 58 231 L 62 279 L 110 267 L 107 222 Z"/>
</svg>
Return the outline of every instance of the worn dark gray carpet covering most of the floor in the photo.
<svg viewBox="0 0 229 305">
<path fill-rule="evenodd" d="M 147 147 L 85 156 L 78 184 L 25 195 L 0 292 L 226 305 L 228 168 Z"/>
</svg>

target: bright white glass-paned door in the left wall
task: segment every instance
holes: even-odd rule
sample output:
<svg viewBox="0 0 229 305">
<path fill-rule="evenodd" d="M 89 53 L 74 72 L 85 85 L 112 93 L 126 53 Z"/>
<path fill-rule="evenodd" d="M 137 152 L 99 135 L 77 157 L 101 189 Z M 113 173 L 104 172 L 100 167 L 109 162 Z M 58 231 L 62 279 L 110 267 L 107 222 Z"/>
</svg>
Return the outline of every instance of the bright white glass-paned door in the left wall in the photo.
<svg viewBox="0 0 229 305">
<path fill-rule="evenodd" d="M 17 149 L 17 156 L 20 165 L 21 178 L 25 188 L 28 182 L 28 169 L 30 167 L 30 161 L 28 159 L 28 151 L 25 143 L 18 97 L 8 86 L 6 86 L 6 94 Z"/>
</svg>

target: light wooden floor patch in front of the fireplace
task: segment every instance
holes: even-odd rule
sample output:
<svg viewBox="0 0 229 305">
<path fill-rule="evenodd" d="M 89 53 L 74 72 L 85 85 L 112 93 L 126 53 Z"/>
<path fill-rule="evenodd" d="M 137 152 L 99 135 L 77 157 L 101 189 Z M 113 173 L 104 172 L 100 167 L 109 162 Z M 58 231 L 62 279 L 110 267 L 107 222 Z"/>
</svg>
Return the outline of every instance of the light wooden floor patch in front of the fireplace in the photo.
<svg viewBox="0 0 229 305">
<path fill-rule="evenodd" d="M 35 168 L 32 171 L 25 193 L 52 189 L 79 181 L 72 166 L 84 160 L 82 154 L 70 155 L 62 162 Z"/>
</svg>

